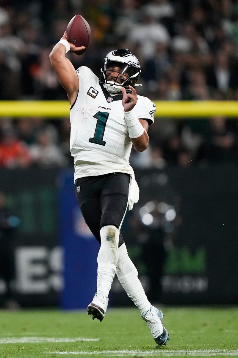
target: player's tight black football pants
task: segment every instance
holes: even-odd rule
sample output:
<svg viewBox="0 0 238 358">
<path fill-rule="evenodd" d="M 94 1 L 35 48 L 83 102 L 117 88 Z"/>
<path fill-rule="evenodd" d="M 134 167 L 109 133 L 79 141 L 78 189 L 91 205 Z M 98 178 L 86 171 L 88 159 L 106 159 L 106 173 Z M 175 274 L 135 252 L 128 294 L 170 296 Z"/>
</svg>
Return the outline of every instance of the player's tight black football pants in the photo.
<svg viewBox="0 0 238 358">
<path fill-rule="evenodd" d="M 130 175 L 126 173 L 76 179 L 75 192 L 82 215 L 100 244 L 100 229 L 103 226 L 113 225 L 119 228 L 121 225 L 128 204 L 129 183 Z M 77 187 L 80 187 L 79 192 Z M 123 242 L 120 233 L 119 247 Z"/>
</svg>

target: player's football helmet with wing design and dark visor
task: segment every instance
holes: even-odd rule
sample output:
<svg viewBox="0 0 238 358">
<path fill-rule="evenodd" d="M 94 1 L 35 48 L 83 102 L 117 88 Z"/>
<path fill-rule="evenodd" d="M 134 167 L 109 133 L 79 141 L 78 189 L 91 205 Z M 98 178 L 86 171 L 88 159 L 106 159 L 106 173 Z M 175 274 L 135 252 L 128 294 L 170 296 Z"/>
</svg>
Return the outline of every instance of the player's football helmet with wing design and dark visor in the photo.
<svg viewBox="0 0 238 358">
<path fill-rule="evenodd" d="M 108 71 L 114 73 L 113 78 Z M 130 92 L 128 86 L 142 86 L 136 83 L 140 74 L 141 65 L 136 56 L 125 48 L 118 48 L 109 52 L 103 60 L 100 83 L 111 93 L 121 92 L 122 87 Z"/>
</svg>

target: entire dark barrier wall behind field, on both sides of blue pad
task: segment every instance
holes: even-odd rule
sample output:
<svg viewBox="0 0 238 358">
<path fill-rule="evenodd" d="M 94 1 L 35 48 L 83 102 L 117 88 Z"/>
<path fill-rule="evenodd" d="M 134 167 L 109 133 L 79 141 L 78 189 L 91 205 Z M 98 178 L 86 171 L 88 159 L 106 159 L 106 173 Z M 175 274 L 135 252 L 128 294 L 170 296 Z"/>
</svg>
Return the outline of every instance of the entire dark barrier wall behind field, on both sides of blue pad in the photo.
<svg viewBox="0 0 238 358">
<path fill-rule="evenodd" d="M 59 303 L 58 177 L 57 170 L 0 171 L 0 190 L 21 220 L 9 252 L 14 296 L 23 306 Z M 224 165 L 136 171 L 140 200 L 122 232 L 152 301 L 238 302 L 237 177 L 238 168 Z M 0 304 L 4 291 L 0 280 Z M 110 299 L 130 304 L 116 279 Z"/>
</svg>

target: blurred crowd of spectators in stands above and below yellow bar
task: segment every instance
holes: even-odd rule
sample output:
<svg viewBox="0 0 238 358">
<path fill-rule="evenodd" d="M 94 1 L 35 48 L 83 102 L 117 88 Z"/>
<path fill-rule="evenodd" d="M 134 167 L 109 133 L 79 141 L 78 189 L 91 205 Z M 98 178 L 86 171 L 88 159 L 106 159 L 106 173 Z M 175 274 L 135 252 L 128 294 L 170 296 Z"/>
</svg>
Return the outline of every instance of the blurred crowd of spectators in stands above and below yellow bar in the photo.
<svg viewBox="0 0 238 358">
<path fill-rule="evenodd" d="M 136 54 L 138 94 L 154 100 L 238 99 L 237 0 L 0 0 L 0 100 L 66 100 L 49 53 L 75 14 L 92 42 L 68 53 L 75 68 L 100 76 L 105 55 Z M 159 110 L 159 108 L 157 108 Z M 238 120 L 156 118 L 150 147 L 132 152 L 141 168 L 238 161 Z M 71 166 L 68 118 L 0 120 L 0 167 Z"/>
</svg>

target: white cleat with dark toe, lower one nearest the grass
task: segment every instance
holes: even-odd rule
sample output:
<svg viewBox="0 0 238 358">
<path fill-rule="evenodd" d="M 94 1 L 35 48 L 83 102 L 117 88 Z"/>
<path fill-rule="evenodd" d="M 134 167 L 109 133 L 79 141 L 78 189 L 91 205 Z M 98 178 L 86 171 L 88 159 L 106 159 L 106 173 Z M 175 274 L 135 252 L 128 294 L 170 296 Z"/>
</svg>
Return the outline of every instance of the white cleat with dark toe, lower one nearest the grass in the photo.
<svg viewBox="0 0 238 358">
<path fill-rule="evenodd" d="M 141 316 L 148 324 L 152 336 L 158 345 L 166 345 L 167 340 L 169 340 L 167 329 L 162 323 L 163 316 L 163 312 L 154 306 L 151 306 L 151 309 L 144 316 Z"/>
</svg>

